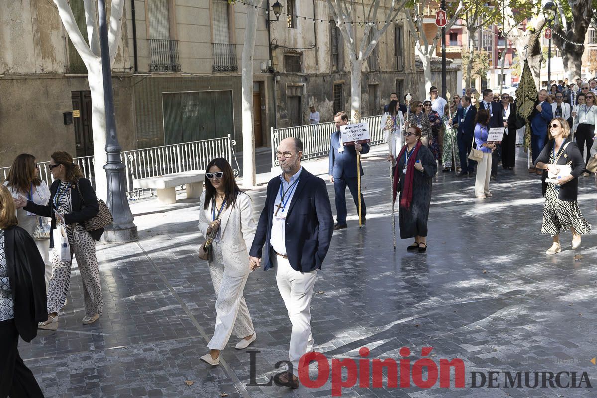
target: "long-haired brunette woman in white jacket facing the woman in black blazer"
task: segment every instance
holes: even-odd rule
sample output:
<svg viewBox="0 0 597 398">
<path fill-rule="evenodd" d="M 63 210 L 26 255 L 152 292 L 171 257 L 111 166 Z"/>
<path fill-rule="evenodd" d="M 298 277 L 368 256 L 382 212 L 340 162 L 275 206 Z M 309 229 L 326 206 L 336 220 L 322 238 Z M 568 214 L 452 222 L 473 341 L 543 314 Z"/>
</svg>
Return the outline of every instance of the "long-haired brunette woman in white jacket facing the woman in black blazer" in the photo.
<svg viewBox="0 0 597 398">
<path fill-rule="evenodd" d="M 39 166 L 35 160 L 35 156 L 29 153 L 21 153 L 17 156 L 13 165 L 8 172 L 8 177 L 4 181 L 4 185 L 8 188 L 14 199 L 19 199 L 19 196 L 24 196 L 27 200 L 31 200 L 38 205 L 46 205 L 50 200 L 50 189 L 48 184 L 39 178 Z M 17 209 L 17 219 L 19 220 L 19 227 L 29 232 L 33 236 L 35 227 L 39 225 L 47 226 L 47 218 L 40 217 L 21 209 Z M 39 249 L 45 265 L 45 286 L 48 288 L 50 277 L 52 276 L 52 263 L 49 260 L 50 242 L 48 239 L 33 238 L 35 244 Z"/>
</svg>

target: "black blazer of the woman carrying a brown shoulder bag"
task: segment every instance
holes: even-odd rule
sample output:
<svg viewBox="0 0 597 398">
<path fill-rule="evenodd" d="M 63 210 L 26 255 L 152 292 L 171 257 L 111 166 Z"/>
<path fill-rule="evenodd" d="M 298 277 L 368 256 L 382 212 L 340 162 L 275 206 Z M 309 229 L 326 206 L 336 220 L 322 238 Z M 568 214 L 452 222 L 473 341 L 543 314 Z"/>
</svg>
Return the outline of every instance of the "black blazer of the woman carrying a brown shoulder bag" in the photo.
<svg viewBox="0 0 597 398">
<path fill-rule="evenodd" d="M 30 211 L 33 214 L 41 215 L 42 217 L 51 217 L 51 230 L 56 229 L 56 214 L 54 214 L 53 200 L 59 185 L 60 180 L 54 180 L 50 186 L 50 202 L 47 205 L 41 206 L 33 202 L 27 202 L 27 206 L 24 207 L 26 211 Z M 79 190 L 81 191 L 84 203 L 81 203 Z M 96 192 L 87 178 L 79 178 L 77 183 L 71 184 L 70 203 L 72 205 L 72 213 L 64 215 L 64 223 L 66 224 L 79 223 L 85 227 L 83 224 L 84 221 L 91 220 L 100 211 L 100 206 L 97 204 Z M 93 239 L 100 240 L 104 229 L 90 231 L 89 233 Z M 52 235 L 50 234 L 50 248 L 54 247 L 54 237 Z"/>
</svg>

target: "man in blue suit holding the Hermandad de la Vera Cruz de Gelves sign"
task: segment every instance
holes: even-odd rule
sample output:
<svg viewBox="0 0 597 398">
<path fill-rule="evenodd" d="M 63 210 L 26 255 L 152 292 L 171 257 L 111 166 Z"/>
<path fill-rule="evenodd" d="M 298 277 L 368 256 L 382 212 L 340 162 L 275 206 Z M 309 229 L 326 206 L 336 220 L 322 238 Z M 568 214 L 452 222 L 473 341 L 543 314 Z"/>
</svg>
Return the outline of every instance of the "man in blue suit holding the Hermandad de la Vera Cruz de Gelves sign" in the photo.
<svg viewBox="0 0 597 398">
<path fill-rule="evenodd" d="M 336 122 L 336 132 L 330 137 L 330 167 L 328 174 L 330 181 L 334 183 L 334 192 L 336 193 L 336 221 L 334 230 L 343 229 L 347 227 L 346 224 L 346 186 L 352 194 L 352 199 L 355 200 L 355 206 L 358 210 L 358 183 L 356 180 L 356 151 L 361 152 L 361 155 L 369 152 L 367 144 L 355 144 L 344 146 L 340 141 L 340 127 L 348 124 L 348 115 L 346 112 L 338 112 L 334 116 Z M 363 175 L 363 168 L 361 166 L 361 175 Z M 367 221 L 367 207 L 365 206 L 365 199 L 361 193 L 361 218 L 362 223 Z"/>
</svg>

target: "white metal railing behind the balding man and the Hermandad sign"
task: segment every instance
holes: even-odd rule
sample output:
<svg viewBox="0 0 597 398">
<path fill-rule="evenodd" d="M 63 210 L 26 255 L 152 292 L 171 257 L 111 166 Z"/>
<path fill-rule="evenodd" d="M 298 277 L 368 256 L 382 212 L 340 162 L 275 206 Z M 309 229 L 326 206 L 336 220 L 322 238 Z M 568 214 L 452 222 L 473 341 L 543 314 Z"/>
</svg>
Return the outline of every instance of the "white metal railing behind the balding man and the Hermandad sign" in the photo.
<svg viewBox="0 0 597 398">
<path fill-rule="evenodd" d="M 385 142 L 385 135 L 381 129 L 382 116 L 368 116 L 361 118 L 361 122 L 369 124 L 370 145 L 376 145 Z M 278 128 L 270 130 L 272 142 L 272 168 L 279 166 L 276 159 L 276 150 L 278 144 L 284 138 L 296 137 L 303 141 L 304 152 L 303 159 L 315 159 L 328 156 L 330 153 L 330 135 L 336 131 L 336 125 L 333 122 L 311 124 L 305 126 Z"/>
</svg>

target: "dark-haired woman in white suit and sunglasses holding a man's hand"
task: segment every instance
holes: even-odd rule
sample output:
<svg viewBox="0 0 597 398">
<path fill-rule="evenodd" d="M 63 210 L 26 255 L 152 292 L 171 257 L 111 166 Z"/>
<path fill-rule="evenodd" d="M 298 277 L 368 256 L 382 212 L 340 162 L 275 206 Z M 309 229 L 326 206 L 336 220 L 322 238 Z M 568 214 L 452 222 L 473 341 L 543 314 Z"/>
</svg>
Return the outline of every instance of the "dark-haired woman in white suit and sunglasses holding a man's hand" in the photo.
<svg viewBox="0 0 597 398">
<path fill-rule="evenodd" d="M 205 192 L 201 195 L 199 230 L 204 236 L 217 230 L 213 260 L 209 263 L 216 289 L 216 330 L 201 360 L 219 365 L 220 351 L 234 333 L 241 340 L 237 349 L 247 348 L 257 338 L 251 315 L 242 296 L 250 269 L 249 249 L 255 237 L 251 198 L 238 188 L 232 167 L 223 158 L 207 165 Z"/>
</svg>

